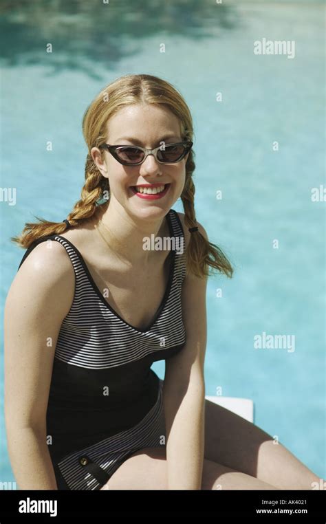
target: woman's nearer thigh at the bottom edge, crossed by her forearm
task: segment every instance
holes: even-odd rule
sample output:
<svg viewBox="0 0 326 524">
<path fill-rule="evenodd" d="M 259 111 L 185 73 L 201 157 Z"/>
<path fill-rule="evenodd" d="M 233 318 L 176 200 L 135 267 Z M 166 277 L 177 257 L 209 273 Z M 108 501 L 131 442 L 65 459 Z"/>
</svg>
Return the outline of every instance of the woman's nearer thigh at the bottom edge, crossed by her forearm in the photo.
<svg viewBox="0 0 326 524">
<path fill-rule="evenodd" d="M 166 490 L 165 448 L 144 448 L 113 473 L 102 490 Z M 274 486 L 204 459 L 202 490 L 276 490 Z"/>
</svg>

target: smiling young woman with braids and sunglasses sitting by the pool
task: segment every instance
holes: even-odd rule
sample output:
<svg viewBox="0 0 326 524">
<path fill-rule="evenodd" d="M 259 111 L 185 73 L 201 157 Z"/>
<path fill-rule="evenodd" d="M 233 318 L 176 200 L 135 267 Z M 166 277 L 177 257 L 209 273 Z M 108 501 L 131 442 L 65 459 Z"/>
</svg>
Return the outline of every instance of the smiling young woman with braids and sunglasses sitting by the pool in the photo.
<svg viewBox="0 0 326 524">
<path fill-rule="evenodd" d="M 80 200 L 13 239 L 27 248 L 5 312 L 19 488 L 312 489 L 281 444 L 205 400 L 207 277 L 232 267 L 196 221 L 186 102 L 160 78 L 124 76 L 83 133 Z"/>
</svg>

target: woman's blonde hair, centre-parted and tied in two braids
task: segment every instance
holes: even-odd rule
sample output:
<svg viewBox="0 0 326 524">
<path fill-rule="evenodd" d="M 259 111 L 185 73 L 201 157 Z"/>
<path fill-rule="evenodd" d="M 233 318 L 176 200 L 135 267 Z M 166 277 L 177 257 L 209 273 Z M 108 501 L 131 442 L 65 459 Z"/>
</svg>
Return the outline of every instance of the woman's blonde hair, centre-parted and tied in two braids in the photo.
<svg viewBox="0 0 326 524">
<path fill-rule="evenodd" d="M 85 184 L 81 190 L 80 199 L 74 205 L 67 219 L 70 226 L 79 226 L 90 219 L 98 207 L 98 200 L 104 192 L 109 195 L 109 182 L 98 170 L 90 151 L 106 140 L 106 124 L 109 118 L 116 114 L 122 107 L 133 104 L 162 105 L 169 109 L 180 121 L 182 139 L 193 139 L 193 120 L 191 113 L 182 95 L 166 80 L 148 74 L 135 74 L 122 76 L 110 83 L 100 91 L 87 107 L 83 116 L 83 135 L 88 147 L 85 164 Z M 101 151 L 101 155 L 104 153 Z M 186 180 L 182 190 L 182 204 L 184 206 L 185 224 L 188 228 L 197 226 L 195 217 L 195 184 L 193 171 L 195 153 L 191 149 L 186 161 Z M 108 202 L 107 202 L 108 204 Z M 39 219 L 38 223 L 25 223 L 25 228 L 17 237 L 12 237 L 13 242 L 23 248 L 30 245 L 39 237 L 61 234 L 67 225 L 64 222 L 50 222 Z M 232 277 L 233 269 L 230 262 L 217 245 L 210 243 L 197 230 L 192 232 L 186 248 L 187 271 L 200 278 L 208 276 L 209 269 L 218 270 Z"/>
</svg>

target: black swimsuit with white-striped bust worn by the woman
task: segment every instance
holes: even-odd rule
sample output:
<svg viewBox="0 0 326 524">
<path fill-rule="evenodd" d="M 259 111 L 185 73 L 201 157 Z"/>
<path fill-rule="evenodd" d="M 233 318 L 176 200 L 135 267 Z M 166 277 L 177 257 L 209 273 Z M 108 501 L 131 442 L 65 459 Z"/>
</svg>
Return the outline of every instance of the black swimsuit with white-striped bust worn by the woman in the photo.
<svg viewBox="0 0 326 524">
<path fill-rule="evenodd" d="M 175 210 L 166 215 L 171 237 L 184 241 Z M 151 369 L 186 342 L 181 291 L 185 254 L 169 254 L 171 270 L 160 307 L 136 329 L 107 303 L 78 249 L 58 234 L 72 261 L 75 293 L 61 324 L 47 406 L 47 444 L 59 490 L 98 490 L 137 450 L 165 446 L 163 381 Z M 150 282 L 150 279 L 149 279 Z M 145 292 L 145 290 L 144 290 Z"/>
</svg>

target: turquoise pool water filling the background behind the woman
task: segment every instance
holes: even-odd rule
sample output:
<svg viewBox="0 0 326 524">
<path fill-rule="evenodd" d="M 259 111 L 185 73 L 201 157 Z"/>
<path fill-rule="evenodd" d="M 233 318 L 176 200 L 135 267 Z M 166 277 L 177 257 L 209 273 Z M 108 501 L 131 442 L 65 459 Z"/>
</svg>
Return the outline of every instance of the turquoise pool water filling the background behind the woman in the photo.
<svg viewBox="0 0 326 524">
<path fill-rule="evenodd" d="M 162 76 L 193 113 L 197 219 L 235 266 L 208 283 L 206 393 L 252 399 L 254 422 L 325 477 L 325 201 L 311 198 L 326 186 L 323 4 L 172 4 L 149 17 L 122 1 L 94 21 L 85 3 L 3 11 L 1 188 L 16 201 L 0 202 L 1 314 L 23 256 L 10 237 L 33 215 L 61 221 L 79 197 L 91 99 L 122 74 Z M 264 38 L 295 41 L 294 58 L 254 54 Z M 254 349 L 264 332 L 294 336 L 294 351 Z M 2 407 L 1 480 L 13 481 Z"/>
</svg>

